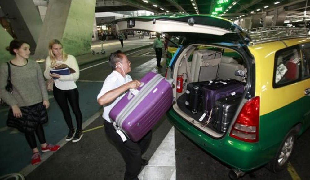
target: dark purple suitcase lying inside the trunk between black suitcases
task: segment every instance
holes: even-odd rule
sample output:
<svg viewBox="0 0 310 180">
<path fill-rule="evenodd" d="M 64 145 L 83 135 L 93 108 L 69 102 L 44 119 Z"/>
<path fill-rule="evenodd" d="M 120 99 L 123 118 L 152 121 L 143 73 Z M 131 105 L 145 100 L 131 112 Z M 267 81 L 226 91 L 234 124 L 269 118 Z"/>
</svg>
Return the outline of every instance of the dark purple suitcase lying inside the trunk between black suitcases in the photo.
<svg viewBox="0 0 310 180">
<path fill-rule="evenodd" d="M 215 105 L 215 101 L 232 93 L 243 93 L 244 85 L 241 81 L 227 79 L 225 81 L 216 81 L 210 85 L 202 87 L 203 108 L 208 114 Z"/>
</svg>

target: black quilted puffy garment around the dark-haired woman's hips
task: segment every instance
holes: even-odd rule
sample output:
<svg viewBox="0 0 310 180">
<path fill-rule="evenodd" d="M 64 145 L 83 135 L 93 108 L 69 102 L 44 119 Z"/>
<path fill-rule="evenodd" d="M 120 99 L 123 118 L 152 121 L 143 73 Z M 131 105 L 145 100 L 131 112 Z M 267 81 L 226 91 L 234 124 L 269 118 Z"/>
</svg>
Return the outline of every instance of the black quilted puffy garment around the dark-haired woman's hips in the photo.
<svg viewBox="0 0 310 180">
<path fill-rule="evenodd" d="M 19 108 L 23 114 L 21 118 L 15 118 L 12 108 L 9 109 L 7 126 L 16 128 L 20 132 L 32 132 L 37 129 L 38 124 L 44 124 L 48 121 L 47 110 L 42 102 Z"/>
</svg>

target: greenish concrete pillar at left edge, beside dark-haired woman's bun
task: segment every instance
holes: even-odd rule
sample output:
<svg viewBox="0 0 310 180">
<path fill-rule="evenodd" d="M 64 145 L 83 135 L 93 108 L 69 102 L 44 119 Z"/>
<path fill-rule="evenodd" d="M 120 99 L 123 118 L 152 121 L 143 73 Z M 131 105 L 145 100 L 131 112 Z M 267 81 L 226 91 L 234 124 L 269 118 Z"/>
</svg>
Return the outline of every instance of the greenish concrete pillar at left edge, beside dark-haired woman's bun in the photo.
<svg viewBox="0 0 310 180">
<path fill-rule="evenodd" d="M 9 51 L 5 50 L 7 46 L 10 45 L 10 42 L 13 40 L 13 37 L 0 25 L 0 64 L 7 62 L 14 58 Z"/>
</svg>

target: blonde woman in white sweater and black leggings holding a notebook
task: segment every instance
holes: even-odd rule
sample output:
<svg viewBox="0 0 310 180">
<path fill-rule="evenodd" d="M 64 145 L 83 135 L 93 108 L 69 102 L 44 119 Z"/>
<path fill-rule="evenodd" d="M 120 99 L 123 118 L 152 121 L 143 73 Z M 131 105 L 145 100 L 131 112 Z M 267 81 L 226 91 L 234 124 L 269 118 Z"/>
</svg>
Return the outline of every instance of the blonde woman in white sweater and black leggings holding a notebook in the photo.
<svg viewBox="0 0 310 180">
<path fill-rule="evenodd" d="M 80 76 L 78 62 L 74 56 L 68 55 L 64 52 L 62 44 L 57 39 L 51 40 L 48 44 L 48 48 L 49 56 L 46 58 L 44 76 L 46 79 L 57 78 L 54 80 L 53 93 L 57 104 L 63 112 L 64 120 L 66 121 L 69 128 L 66 141 L 72 140 L 73 143 L 76 143 L 83 136 L 82 113 L 79 106 L 79 93 L 77 85 L 75 84 L 75 81 L 77 81 Z M 50 70 L 55 69 L 62 64 L 72 68 L 75 73 L 71 73 L 70 75 L 50 73 Z M 77 121 L 76 131 L 74 130 L 72 124 L 68 101 Z"/>
</svg>

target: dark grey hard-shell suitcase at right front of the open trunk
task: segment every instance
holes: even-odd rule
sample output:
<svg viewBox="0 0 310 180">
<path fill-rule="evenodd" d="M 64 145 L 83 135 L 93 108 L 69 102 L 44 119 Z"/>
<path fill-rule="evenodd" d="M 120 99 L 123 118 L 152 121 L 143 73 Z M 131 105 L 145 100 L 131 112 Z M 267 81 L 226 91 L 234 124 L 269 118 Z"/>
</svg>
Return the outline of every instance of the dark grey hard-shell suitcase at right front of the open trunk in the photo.
<svg viewBox="0 0 310 180">
<path fill-rule="evenodd" d="M 215 112 L 212 116 L 212 124 L 216 131 L 224 133 L 227 131 L 237 107 L 241 101 L 242 93 L 227 96 L 215 101 Z"/>
</svg>

